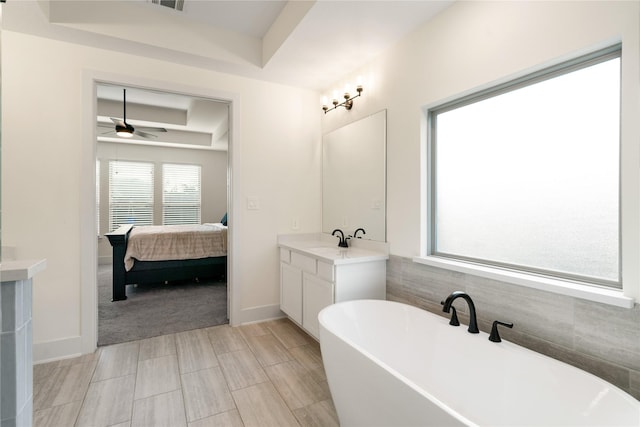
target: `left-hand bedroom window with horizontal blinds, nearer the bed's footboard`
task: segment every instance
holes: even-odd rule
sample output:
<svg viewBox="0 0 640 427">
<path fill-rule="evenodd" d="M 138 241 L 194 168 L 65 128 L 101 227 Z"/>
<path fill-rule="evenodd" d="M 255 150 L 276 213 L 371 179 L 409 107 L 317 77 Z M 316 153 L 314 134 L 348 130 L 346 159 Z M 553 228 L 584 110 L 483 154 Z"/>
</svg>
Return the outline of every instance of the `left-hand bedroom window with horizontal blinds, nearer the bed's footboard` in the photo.
<svg viewBox="0 0 640 427">
<path fill-rule="evenodd" d="M 109 230 L 153 225 L 153 163 L 109 162 Z"/>
</svg>

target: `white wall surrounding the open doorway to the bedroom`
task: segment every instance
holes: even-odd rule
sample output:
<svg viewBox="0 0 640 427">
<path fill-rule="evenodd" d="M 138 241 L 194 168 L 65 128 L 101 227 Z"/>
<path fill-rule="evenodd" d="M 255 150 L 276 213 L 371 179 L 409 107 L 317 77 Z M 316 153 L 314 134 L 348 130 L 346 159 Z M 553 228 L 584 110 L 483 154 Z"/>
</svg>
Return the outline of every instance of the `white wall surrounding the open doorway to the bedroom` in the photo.
<svg viewBox="0 0 640 427">
<path fill-rule="evenodd" d="M 317 93 L 7 30 L 2 66 L 2 243 L 47 259 L 36 361 L 95 347 L 95 79 L 233 101 L 231 320 L 279 314 L 276 236 L 320 229 Z"/>
</svg>

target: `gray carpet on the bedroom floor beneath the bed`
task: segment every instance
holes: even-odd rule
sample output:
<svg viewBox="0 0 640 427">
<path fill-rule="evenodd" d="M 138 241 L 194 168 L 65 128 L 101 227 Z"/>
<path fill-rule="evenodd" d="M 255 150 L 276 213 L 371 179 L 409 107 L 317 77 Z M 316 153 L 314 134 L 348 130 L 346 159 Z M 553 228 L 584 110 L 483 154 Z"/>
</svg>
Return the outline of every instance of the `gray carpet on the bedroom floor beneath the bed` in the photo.
<svg viewBox="0 0 640 427">
<path fill-rule="evenodd" d="M 227 283 L 207 280 L 127 286 L 111 302 L 111 265 L 98 266 L 98 345 L 227 323 Z"/>
</svg>

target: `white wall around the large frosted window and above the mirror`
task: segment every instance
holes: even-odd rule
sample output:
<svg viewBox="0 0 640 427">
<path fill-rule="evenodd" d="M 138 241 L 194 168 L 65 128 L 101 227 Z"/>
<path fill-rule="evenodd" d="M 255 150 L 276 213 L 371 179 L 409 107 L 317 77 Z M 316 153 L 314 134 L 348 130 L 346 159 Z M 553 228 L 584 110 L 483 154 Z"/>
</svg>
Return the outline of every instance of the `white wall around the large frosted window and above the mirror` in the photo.
<svg viewBox="0 0 640 427">
<path fill-rule="evenodd" d="M 361 75 L 364 92 L 350 112 L 326 114 L 323 133 L 387 108 L 391 253 L 420 255 L 424 106 L 621 40 L 623 269 L 625 292 L 639 298 L 639 8 L 637 1 L 456 2 L 375 61 L 336 82 L 335 88 L 340 88 Z"/>
</svg>

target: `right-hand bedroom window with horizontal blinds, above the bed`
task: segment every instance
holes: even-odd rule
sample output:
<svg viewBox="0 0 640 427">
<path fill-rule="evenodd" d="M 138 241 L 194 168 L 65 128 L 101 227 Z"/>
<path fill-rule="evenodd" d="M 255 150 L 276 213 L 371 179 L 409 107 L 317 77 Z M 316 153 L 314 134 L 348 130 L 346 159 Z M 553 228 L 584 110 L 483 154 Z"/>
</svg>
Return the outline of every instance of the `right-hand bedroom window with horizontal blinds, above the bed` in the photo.
<svg viewBox="0 0 640 427">
<path fill-rule="evenodd" d="M 198 165 L 162 165 L 162 223 L 200 224 L 200 176 Z"/>
</svg>

